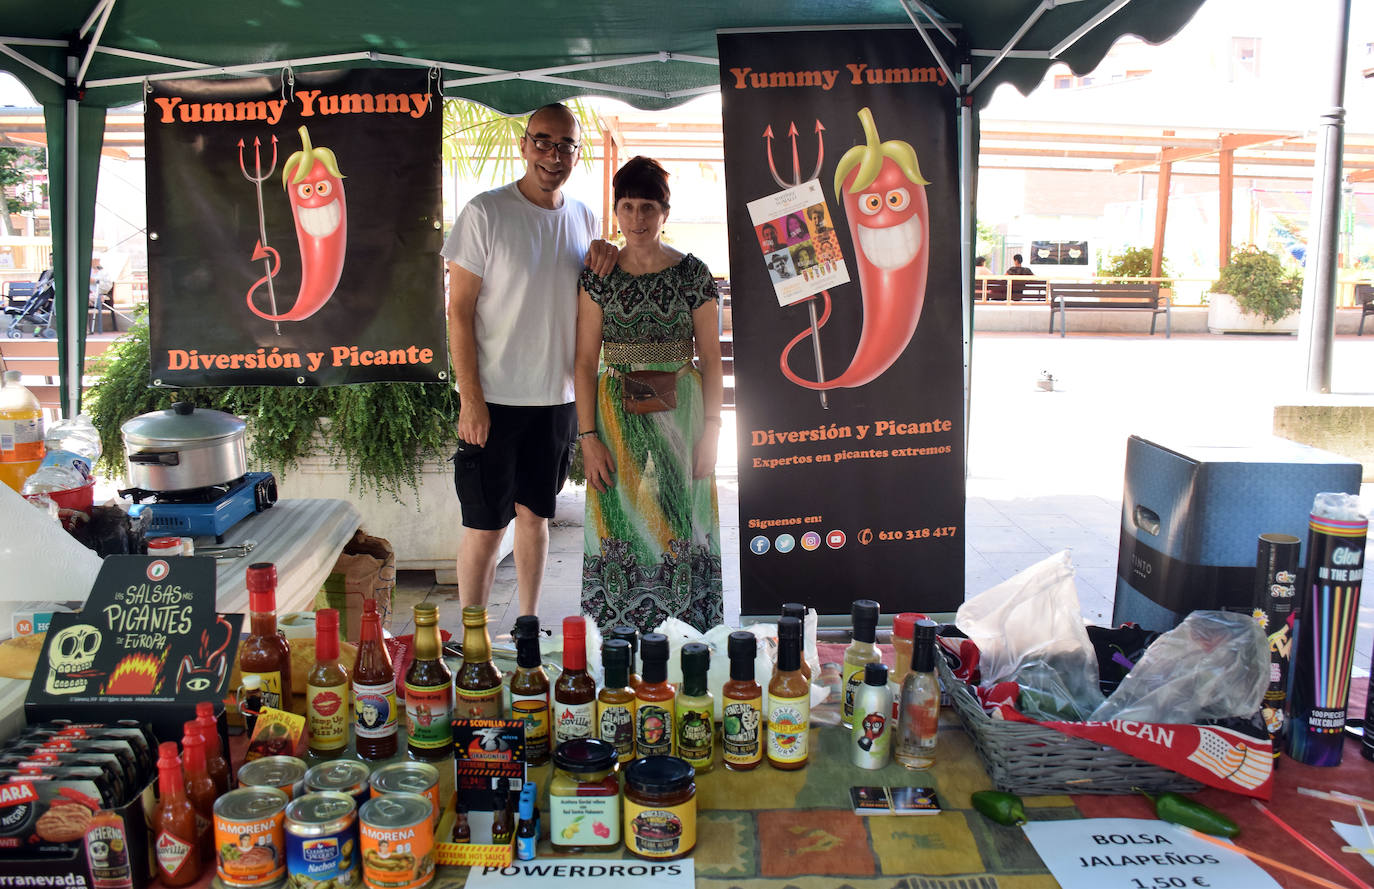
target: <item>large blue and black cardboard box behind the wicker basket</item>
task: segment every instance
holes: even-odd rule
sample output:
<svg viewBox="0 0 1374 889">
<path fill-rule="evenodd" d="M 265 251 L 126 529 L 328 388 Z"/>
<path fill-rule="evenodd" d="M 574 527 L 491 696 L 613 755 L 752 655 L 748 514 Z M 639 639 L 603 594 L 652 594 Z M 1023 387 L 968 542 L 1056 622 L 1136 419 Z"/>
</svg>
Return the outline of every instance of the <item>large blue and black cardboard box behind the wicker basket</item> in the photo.
<svg viewBox="0 0 1374 889">
<path fill-rule="evenodd" d="M 1263 533 L 1293 534 L 1307 561 L 1312 497 L 1359 493 L 1362 467 L 1286 438 L 1168 447 L 1131 436 L 1112 622 L 1168 631 L 1198 609 L 1249 609 Z"/>
</svg>

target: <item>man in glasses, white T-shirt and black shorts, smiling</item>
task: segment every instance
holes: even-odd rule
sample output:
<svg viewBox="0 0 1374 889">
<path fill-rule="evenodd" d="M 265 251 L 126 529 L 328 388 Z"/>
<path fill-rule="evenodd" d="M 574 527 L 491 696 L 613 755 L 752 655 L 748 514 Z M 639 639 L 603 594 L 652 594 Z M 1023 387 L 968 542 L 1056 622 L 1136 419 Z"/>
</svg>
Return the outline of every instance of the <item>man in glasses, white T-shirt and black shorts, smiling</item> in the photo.
<svg viewBox="0 0 1374 889">
<path fill-rule="evenodd" d="M 562 188 L 581 151 L 562 104 L 530 115 L 519 137 L 525 175 L 473 198 L 444 245 L 448 344 L 460 396 L 453 486 L 463 508 L 458 594 L 486 605 L 506 526 L 515 522 L 519 613 L 539 607 L 548 519 L 567 480 L 577 415 L 573 349 L 577 275 L 600 272 L 616 247 Z"/>
</svg>

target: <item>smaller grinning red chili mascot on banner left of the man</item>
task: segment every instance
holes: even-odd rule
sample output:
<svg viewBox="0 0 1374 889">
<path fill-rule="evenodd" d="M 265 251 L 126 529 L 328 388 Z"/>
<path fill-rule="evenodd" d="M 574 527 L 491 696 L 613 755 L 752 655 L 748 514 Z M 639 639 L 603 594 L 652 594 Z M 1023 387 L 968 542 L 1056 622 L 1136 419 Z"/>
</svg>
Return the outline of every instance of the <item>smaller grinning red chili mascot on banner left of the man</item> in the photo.
<svg viewBox="0 0 1374 889">
<path fill-rule="evenodd" d="M 289 312 L 269 315 L 253 304 L 249 290 L 249 309 L 269 322 L 301 322 L 319 312 L 344 273 L 344 253 L 348 247 L 348 207 L 344 202 L 344 173 L 334 153 L 311 146 L 311 133 L 304 126 L 301 150 L 282 166 L 282 187 L 291 201 L 295 217 L 295 240 L 301 247 L 301 291 Z M 275 253 L 275 251 L 273 251 Z M 265 254 L 264 254 L 265 256 Z M 254 260 L 262 258 L 254 253 Z M 276 273 L 276 268 L 272 268 Z"/>
</svg>

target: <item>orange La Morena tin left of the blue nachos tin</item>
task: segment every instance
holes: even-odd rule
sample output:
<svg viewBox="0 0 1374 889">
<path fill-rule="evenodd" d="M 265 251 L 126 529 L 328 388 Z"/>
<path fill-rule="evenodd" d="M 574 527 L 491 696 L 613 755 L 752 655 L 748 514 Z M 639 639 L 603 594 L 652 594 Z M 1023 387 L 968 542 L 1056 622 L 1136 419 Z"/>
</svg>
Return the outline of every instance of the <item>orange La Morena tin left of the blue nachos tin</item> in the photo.
<svg viewBox="0 0 1374 889">
<path fill-rule="evenodd" d="M 231 889 L 272 889 L 286 877 L 286 794 L 276 787 L 239 787 L 214 801 L 214 860 Z"/>
</svg>

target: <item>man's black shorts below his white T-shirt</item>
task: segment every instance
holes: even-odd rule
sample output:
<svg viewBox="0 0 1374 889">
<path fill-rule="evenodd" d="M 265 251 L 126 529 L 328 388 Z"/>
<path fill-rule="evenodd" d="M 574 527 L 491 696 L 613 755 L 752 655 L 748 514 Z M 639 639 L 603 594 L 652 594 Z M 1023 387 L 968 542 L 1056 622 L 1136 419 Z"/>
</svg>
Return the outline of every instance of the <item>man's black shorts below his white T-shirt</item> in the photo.
<svg viewBox="0 0 1374 889">
<path fill-rule="evenodd" d="M 519 503 L 534 515 L 554 518 L 558 492 L 573 463 L 577 408 L 486 405 L 492 418 L 486 447 L 458 442 L 453 488 L 463 507 L 463 526 L 500 530 Z"/>
</svg>

